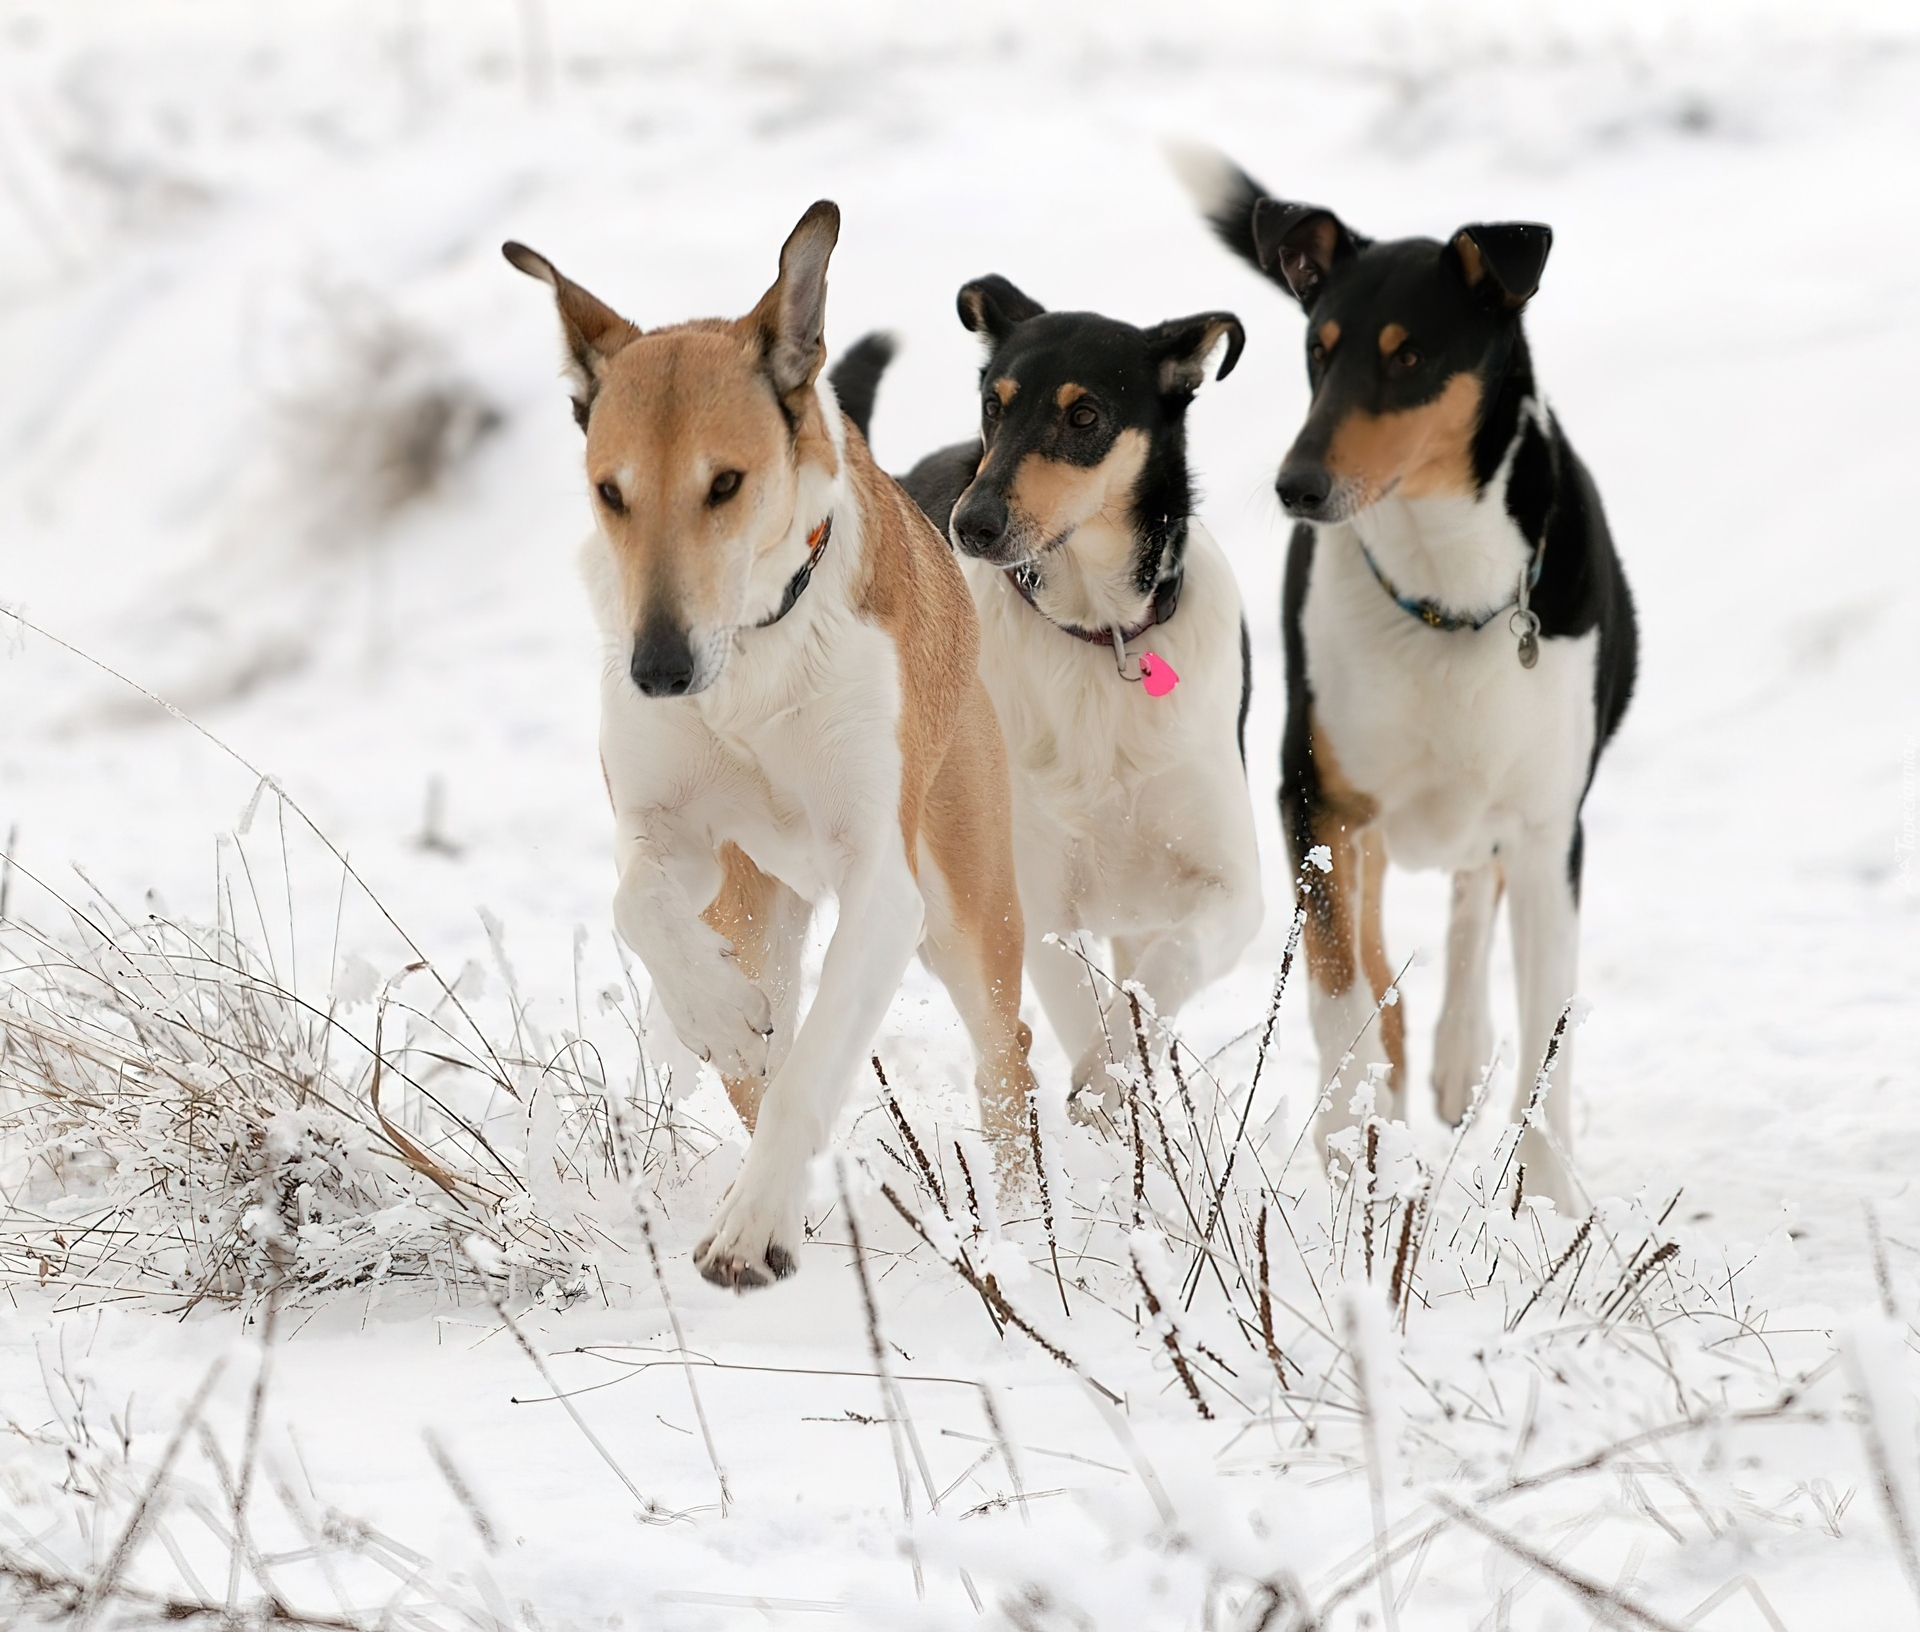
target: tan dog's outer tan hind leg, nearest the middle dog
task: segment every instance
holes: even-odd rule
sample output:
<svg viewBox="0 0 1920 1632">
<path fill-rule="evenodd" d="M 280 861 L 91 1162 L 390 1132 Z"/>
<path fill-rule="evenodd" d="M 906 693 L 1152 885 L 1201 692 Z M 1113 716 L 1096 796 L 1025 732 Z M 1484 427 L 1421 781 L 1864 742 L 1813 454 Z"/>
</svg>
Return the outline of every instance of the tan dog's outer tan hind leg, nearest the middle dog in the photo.
<svg viewBox="0 0 1920 1632">
<path fill-rule="evenodd" d="M 973 1039 L 981 1129 L 1002 1179 L 1014 1179 L 1025 1171 L 1033 1033 L 1020 1018 L 1025 935 L 1004 756 L 983 732 L 991 708 L 981 687 L 927 791 L 920 826 L 920 889 L 927 902 L 922 952 Z"/>
</svg>

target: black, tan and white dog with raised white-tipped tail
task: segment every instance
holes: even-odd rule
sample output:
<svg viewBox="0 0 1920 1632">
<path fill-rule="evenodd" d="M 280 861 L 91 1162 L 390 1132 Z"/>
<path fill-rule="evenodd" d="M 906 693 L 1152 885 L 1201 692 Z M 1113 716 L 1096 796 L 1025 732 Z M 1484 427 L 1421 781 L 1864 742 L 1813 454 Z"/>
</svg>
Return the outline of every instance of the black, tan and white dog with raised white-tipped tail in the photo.
<svg viewBox="0 0 1920 1632">
<path fill-rule="evenodd" d="M 1404 1008 L 1367 1027 L 1390 981 L 1388 860 L 1453 874 L 1432 1075 L 1446 1121 L 1488 1066 L 1505 889 L 1521 1116 L 1574 993 L 1580 806 L 1638 647 L 1599 493 L 1540 397 L 1521 324 L 1553 234 L 1496 223 L 1375 242 L 1329 209 L 1269 198 L 1217 154 L 1175 163 L 1213 230 L 1308 315 L 1311 407 L 1275 488 L 1300 522 L 1281 611 L 1281 816 L 1309 879 L 1323 1081 L 1342 1081 L 1321 1144 L 1352 1119 L 1346 1089 L 1369 1066 L 1390 1066 L 1404 1114 Z M 1308 866 L 1321 845 L 1327 874 Z M 1563 1210 L 1569 1079 L 1563 1046 L 1521 1142 L 1524 1185 Z"/>
</svg>

